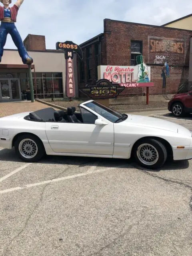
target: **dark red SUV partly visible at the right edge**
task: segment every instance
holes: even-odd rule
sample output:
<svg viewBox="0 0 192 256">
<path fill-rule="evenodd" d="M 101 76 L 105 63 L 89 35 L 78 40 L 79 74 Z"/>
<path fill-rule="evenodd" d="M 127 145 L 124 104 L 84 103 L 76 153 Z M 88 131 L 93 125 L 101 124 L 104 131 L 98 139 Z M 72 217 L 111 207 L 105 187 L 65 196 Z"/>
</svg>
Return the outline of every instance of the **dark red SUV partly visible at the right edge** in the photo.
<svg viewBox="0 0 192 256">
<path fill-rule="evenodd" d="M 192 91 L 174 95 L 168 102 L 168 110 L 176 117 L 192 113 Z"/>
</svg>

